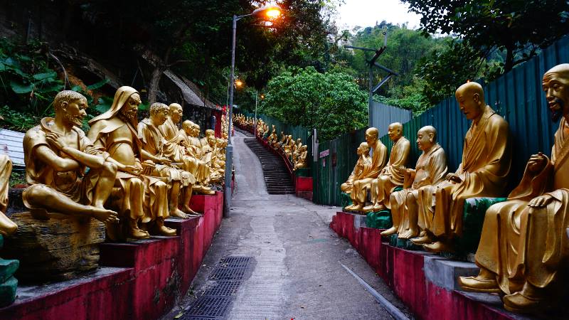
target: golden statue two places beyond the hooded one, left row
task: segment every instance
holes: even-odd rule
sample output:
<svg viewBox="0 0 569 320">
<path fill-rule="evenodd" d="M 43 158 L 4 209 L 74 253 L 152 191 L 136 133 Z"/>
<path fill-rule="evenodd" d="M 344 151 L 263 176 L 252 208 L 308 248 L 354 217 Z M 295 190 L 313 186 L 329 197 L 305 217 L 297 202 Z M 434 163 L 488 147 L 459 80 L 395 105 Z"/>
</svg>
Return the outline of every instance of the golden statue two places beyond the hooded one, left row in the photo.
<svg viewBox="0 0 569 320">
<path fill-rule="evenodd" d="M 172 103 L 169 105 L 169 114 L 166 118 L 166 122 L 162 124 L 159 129 L 164 139 L 166 139 L 166 144 L 164 144 L 164 156 L 171 159 L 175 163 L 181 164 L 181 169 L 188 171 L 194 178 L 196 178 L 196 183 L 193 185 L 193 191 L 201 194 L 213 194 L 211 188 L 207 186 L 207 178 L 203 171 L 200 170 L 198 159 L 195 156 L 191 156 L 184 149 L 184 146 L 179 144 L 181 130 L 178 129 L 178 124 L 182 119 L 182 107 L 177 103 Z M 190 192 L 186 188 L 185 192 Z M 188 198 L 185 196 L 184 198 Z M 189 210 L 188 210 L 189 209 Z M 188 213 L 193 213 L 191 208 L 185 208 Z"/>
</svg>

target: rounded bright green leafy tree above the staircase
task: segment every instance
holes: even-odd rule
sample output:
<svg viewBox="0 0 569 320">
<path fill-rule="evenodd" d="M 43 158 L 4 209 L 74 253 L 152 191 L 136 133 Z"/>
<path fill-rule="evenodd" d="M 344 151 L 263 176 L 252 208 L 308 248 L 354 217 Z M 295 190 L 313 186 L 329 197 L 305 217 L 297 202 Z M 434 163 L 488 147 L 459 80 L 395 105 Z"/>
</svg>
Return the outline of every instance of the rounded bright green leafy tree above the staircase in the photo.
<svg viewBox="0 0 569 320">
<path fill-rule="evenodd" d="M 260 112 L 292 125 L 315 127 L 319 139 L 365 127 L 367 95 L 345 73 L 314 67 L 289 70 L 267 85 Z"/>
</svg>

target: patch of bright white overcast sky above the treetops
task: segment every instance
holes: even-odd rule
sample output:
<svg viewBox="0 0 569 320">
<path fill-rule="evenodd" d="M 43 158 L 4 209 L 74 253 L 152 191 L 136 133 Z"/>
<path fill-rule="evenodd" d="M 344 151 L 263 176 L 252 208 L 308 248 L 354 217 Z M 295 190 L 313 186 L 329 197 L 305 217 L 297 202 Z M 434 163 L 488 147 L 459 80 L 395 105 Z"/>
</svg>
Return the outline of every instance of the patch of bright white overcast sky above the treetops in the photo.
<svg viewBox="0 0 569 320">
<path fill-rule="evenodd" d="M 408 6 L 399 0 L 345 0 L 339 6 L 336 26 L 351 30 L 355 26 L 375 26 L 383 20 L 393 24 L 408 23 L 408 28 L 418 28 L 420 16 L 408 13 Z"/>
</svg>

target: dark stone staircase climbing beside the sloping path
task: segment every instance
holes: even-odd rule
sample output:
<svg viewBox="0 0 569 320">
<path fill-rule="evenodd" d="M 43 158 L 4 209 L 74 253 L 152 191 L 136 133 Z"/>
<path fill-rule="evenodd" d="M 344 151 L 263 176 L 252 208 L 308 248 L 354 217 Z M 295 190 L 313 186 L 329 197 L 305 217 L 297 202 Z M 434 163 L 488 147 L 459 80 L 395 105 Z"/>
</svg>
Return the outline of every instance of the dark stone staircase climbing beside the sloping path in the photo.
<svg viewBox="0 0 569 320">
<path fill-rule="evenodd" d="M 282 159 L 265 149 L 255 138 L 245 138 L 243 141 L 261 161 L 267 193 L 294 194 L 294 185 Z"/>
</svg>

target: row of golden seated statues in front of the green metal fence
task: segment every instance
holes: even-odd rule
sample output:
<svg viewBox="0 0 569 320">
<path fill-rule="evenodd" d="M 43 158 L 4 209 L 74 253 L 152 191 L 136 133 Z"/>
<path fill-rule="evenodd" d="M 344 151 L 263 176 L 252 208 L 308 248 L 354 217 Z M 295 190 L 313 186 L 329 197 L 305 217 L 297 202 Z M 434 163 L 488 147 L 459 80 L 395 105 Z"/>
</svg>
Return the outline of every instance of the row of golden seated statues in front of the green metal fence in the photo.
<svg viewBox="0 0 569 320">
<path fill-rule="evenodd" d="M 459 278 L 467 291 L 503 294 L 510 311 L 543 311 L 566 298 L 562 293 L 569 257 L 569 64 L 543 75 L 543 92 L 551 119 L 560 119 L 551 158 L 533 154 L 507 201 L 489 207 L 475 255 L 479 274 Z M 393 142 L 389 158 L 378 130 L 371 127 L 366 142 L 358 146 L 353 172 L 341 186 L 353 203 L 346 211 L 390 209 L 393 227 L 382 236 L 397 234 L 429 252 L 452 252 L 462 236 L 464 201 L 506 196 L 512 156 L 508 123 L 486 105 L 476 82 L 460 86 L 455 97 L 472 121 L 457 171 L 447 173 L 435 127 L 422 127 L 417 133 L 422 154 L 415 169 L 405 167 L 410 142 L 402 136 L 401 124 L 388 128 Z"/>
</svg>

